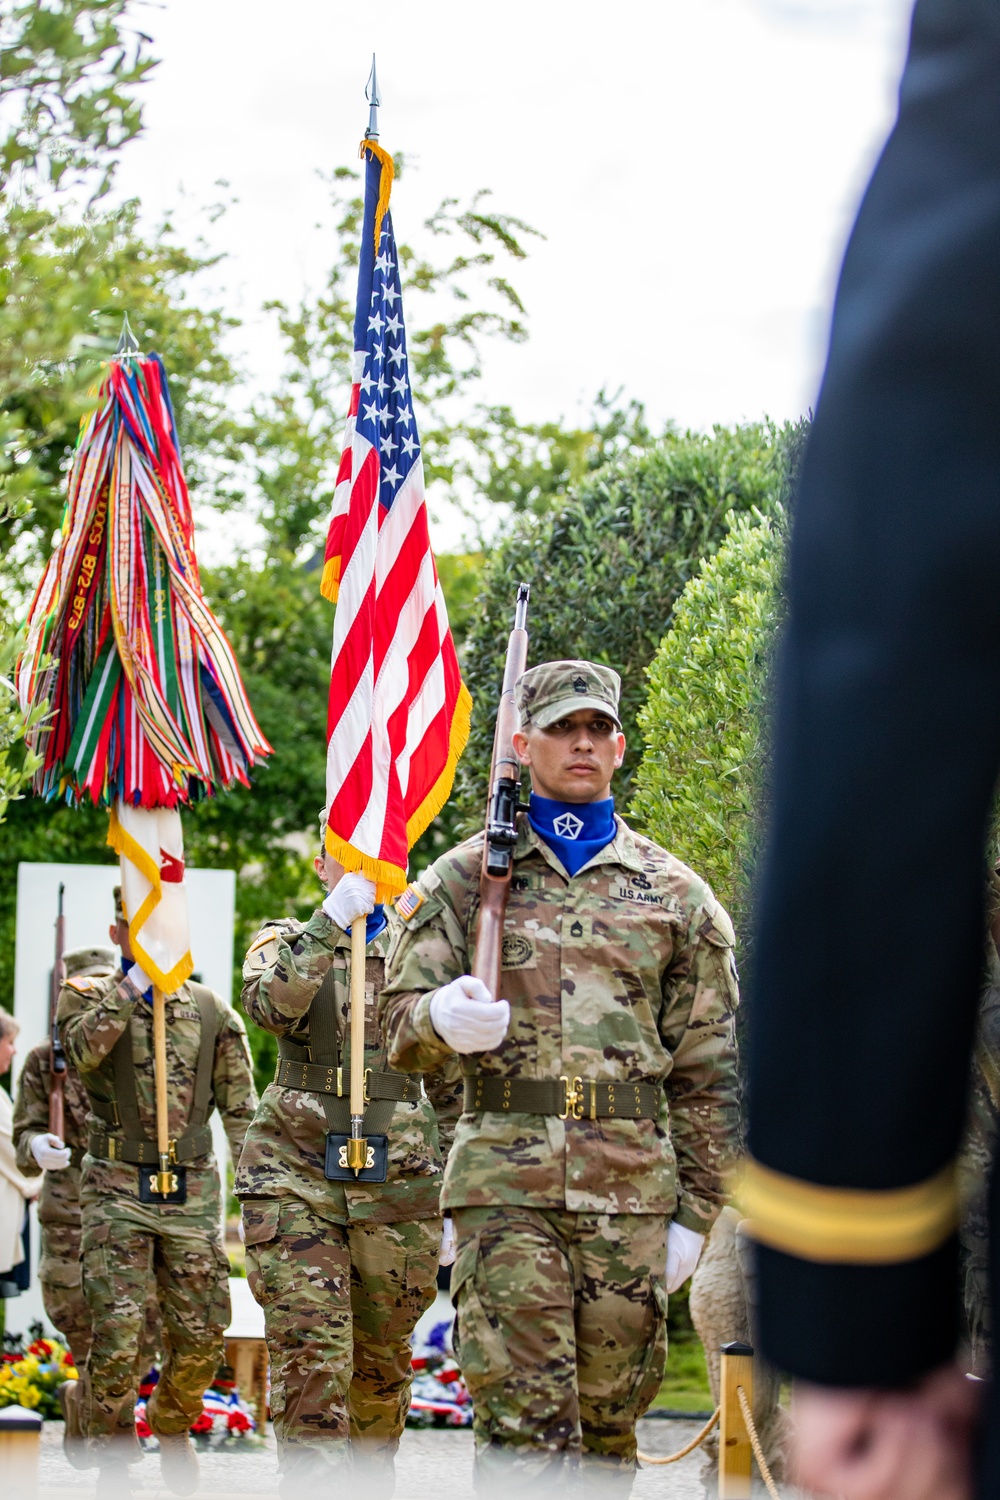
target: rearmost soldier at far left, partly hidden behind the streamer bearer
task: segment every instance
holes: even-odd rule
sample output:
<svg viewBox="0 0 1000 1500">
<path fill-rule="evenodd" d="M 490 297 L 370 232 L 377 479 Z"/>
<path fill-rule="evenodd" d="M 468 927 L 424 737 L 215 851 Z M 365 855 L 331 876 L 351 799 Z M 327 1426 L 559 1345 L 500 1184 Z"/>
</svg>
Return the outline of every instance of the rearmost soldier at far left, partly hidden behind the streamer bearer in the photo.
<svg viewBox="0 0 1000 1500">
<path fill-rule="evenodd" d="M 63 963 L 67 980 L 105 976 L 114 974 L 115 956 L 112 948 L 73 948 L 63 954 Z M 79 1270 L 79 1167 L 87 1149 L 88 1104 L 75 1068 L 67 1068 L 63 1078 L 66 1140 L 55 1142 L 48 1130 L 49 1044 L 43 1041 L 30 1050 L 18 1077 L 13 1146 L 18 1167 L 27 1178 L 42 1170 L 39 1156 L 48 1160 L 37 1198 L 42 1302 L 52 1328 L 66 1340 L 73 1362 L 82 1368 L 90 1352 L 90 1308 Z M 64 1166 L 55 1166 L 58 1155 L 66 1160 Z M 156 1364 L 157 1353 L 159 1310 L 154 1286 L 150 1284 L 136 1376 Z"/>
</svg>

